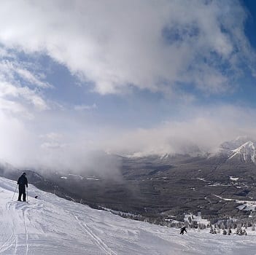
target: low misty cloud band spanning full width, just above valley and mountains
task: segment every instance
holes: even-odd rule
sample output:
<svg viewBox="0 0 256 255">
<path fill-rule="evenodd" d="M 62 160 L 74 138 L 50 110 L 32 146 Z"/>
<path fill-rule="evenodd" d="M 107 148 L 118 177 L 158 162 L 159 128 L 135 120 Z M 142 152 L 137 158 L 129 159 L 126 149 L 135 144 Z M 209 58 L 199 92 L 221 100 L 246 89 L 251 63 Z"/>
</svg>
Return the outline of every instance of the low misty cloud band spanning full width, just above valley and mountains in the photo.
<svg viewBox="0 0 256 255">
<path fill-rule="evenodd" d="M 100 165 L 107 172 L 100 161 L 106 156 L 90 151 L 183 153 L 195 144 L 204 152 L 216 152 L 223 141 L 236 136 L 256 138 L 255 111 L 233 106 L 185 108 L 181 120 L 125 130 L 113 125 L 88 125 L 86 118 L 73 121 L 74 112 L 62 116 L 60 112 L 43 111 L 34 119 L 18 119 L 1 111 L 2 106 L 0 100 L 0 159 L 18 167 L 86 172 Z"/>
</svg>

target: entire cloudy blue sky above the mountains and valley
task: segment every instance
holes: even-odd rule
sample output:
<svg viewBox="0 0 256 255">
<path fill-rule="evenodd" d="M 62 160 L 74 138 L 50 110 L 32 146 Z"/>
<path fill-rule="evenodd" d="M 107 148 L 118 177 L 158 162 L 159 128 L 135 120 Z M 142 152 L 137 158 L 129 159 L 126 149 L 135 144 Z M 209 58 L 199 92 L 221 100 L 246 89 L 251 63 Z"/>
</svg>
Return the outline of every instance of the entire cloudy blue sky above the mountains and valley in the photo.
<svg viewBox="0 0 256 255">
<path fill-rule="evenodd" d="M 0 5 L 2 160 L 81 170 L 256 138 L 255 1 Z"/>
</svg>

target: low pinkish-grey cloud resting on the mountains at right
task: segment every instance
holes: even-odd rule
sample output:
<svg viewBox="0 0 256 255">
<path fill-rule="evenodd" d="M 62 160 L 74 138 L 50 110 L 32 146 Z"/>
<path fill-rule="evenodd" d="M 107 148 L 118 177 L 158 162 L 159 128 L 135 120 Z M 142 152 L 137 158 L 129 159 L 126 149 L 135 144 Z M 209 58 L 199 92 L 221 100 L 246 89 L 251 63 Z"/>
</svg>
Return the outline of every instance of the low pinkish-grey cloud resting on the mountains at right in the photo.
<svg viewBox="0 0 256 255">
<path fill-rule="evenodd" d="M 190 117 L 189 117 L 190 116 Z M 183 154 L 195 145 L 202 152 L 217 152 L 223 141 L 247 135 L 256 139 L 255 111 L 234 106 L 187 109 L 184 120 L 170 120 L 155 127 L 114 131 L 100 143 L 117 154 Z"/>
</svg>

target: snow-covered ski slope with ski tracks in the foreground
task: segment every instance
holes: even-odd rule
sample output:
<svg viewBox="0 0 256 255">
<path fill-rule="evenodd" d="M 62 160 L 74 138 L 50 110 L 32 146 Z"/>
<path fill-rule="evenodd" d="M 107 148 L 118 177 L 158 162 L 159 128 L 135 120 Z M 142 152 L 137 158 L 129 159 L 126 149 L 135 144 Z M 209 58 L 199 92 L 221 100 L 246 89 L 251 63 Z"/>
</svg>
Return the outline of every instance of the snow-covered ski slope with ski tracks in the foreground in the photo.
<svg viewBox="0 0 256 255">
<path fill-rule="evenodd" d="M 12 201 L 15 187 L 15 181 L 0 178 L 0 254 L 256 254 L 252 231 L 224 236 L 190 229 L 182 236 L 179 229 L 123 219 L 32 185 L 29 203 Z"/>
</svg>

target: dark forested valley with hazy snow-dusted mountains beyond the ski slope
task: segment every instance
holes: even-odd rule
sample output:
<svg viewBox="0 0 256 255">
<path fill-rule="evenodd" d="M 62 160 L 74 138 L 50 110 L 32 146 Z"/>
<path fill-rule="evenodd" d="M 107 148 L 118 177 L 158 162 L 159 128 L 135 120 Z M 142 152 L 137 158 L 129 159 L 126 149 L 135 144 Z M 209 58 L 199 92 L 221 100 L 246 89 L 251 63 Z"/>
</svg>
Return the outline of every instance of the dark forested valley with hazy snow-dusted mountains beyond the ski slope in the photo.
<svg viewBox="0 0 256 255">
<path fill-rule="evenodd" d="M 120 178 L 86 170 L 79 174 L 26 172 L 29 183 L 36 187 L 93 207 L 174 216 L 188 211 L 211 217 L 227 211 L 232 215 L 249 213 L 240 211 L 237 201 L 256 200 L 255 141 L 238 137 L 221 144 L 216 154 L 198 153 L 198 148 L 193 148 L 192 154 L 110 155 L 120 162 Z M 0 175 L 14 180 L 22 171 L 0 165 Z"/>
</svg>

